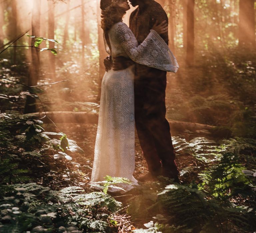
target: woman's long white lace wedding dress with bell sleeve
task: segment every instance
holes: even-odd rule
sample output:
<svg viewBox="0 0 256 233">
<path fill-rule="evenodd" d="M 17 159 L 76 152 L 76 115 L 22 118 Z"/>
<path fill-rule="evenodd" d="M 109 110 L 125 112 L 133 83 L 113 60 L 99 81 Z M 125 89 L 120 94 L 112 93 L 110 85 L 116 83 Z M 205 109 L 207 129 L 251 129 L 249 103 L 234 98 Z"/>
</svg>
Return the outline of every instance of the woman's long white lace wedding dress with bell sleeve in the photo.
<svg viewBox="0 0 256 233">
<path fill-rule="evenodd" d="M 179 68 L 167 44 L 154 30 L 151 30 L 139 46 L 135 36 L 123 22 L 113 25 L 108 35 L 112 57 L 129 57 L 136 63 L 169 72 L 176 72 Z M 110 54 L 107 43 L 105 45 L 106 51 Z M 131 184 L 118 184 L 126 191 L 137 184 L 137 180 L 133 177 L 135 169 L 133 79 L 134 65 L 120 71 L 111 69 L 104 74 L 91 175 L 91 183 L 103 181 L 106 175 L 128 178 Z M 120 190 L 110 187 L 108 191 Z"/>
</svg>

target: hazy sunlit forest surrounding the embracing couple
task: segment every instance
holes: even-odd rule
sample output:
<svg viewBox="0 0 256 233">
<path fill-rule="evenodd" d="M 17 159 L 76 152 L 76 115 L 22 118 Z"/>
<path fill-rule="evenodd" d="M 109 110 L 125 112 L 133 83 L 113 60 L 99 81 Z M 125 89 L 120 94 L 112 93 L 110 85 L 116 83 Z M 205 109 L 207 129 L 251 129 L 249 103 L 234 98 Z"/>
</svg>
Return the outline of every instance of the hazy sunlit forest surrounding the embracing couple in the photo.
<svg viewBox="0 0 256 233">
<path fill-rule="evenodd" d="M 256 231 L 255 0 L 156 0 L 181 183 L 90 185 L 107 56 L 100 0 L 0 0 L 0 232 Z M 129 16 L 134 7 L 124 16 Z M 135 172 L 147 171 L 135 137 Z"/>
</svg>

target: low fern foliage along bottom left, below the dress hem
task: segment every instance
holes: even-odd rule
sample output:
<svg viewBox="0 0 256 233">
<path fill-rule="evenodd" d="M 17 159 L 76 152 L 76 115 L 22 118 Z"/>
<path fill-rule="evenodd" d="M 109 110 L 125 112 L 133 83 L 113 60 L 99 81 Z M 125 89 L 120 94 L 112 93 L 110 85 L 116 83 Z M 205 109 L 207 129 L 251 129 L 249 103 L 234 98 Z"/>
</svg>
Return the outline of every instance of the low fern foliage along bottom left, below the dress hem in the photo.
<svg viewBox="0 0 256 233">
<path fill-rule="evenodd" d="M 1 232 L 64 232 L 78 228 L 111 232 L 109 216 L 121 207 L 107 194 L 85 193 L 80 187 L 57 192 L 28 183 L 9 185 L 5 190 L 0 201 Z"/>
</svg>

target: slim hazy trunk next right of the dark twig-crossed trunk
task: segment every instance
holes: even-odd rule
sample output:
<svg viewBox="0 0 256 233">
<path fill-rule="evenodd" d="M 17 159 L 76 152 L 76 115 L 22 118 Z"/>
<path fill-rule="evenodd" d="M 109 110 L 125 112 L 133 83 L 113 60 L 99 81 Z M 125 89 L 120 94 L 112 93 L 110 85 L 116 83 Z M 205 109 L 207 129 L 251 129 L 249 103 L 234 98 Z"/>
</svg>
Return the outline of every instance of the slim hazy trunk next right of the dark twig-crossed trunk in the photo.
<svg viewBox="0 0 256 233">
<path fill-rule="evenodd" d="M 54 39 L 54 28 L 55 28 L 55 18 L 54 18 L 55 5 L 53 0 L 48 0 L 48 38 Z M 49 41 L 49 48 L 54 48 L 55 43 Z M 55 56 L 52 53 L 48 53 L 49 56 L 49 73 L 51 80 L 56 81 L 56 71 L 55 71 Z"/>
</svg>

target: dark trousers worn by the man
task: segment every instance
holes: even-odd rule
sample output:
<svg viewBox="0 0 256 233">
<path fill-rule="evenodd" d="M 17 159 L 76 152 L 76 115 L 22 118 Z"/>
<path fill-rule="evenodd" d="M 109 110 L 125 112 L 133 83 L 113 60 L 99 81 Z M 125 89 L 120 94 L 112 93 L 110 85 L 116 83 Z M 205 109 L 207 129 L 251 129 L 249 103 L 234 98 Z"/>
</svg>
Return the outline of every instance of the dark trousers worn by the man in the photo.
<svg viewBox="0 0 256 233">
<path fill-rule="evenodd" d="M 165 118 L 165 89 L 165 71 L 135 65 L 135 123 L 149 172 L 176 178 L 175 152 Z"/>
</svg>

